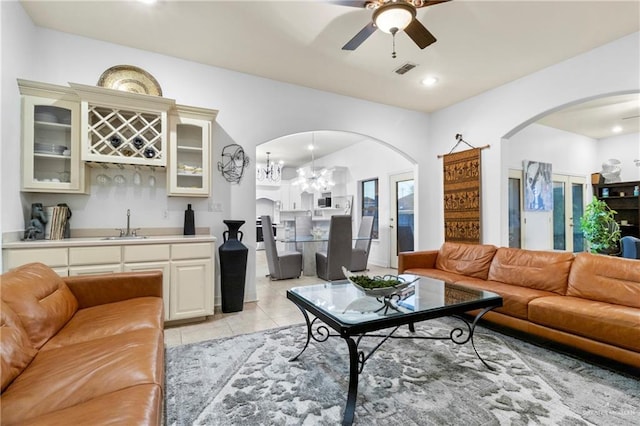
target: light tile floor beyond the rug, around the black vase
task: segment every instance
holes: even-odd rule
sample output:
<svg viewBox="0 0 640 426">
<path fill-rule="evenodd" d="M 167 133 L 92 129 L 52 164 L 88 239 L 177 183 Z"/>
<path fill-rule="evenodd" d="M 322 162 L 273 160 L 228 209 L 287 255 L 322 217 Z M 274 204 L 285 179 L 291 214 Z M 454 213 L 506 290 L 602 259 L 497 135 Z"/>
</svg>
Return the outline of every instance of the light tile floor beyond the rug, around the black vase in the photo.
<svg viewBox="0 0 640 426">
<path fill-rule="evenodd" d="M 381 268 L 369 264 L 367 275 L 397 274 L 396 269 Z M 257 302 L 244 304 L 240 312 L 216 313 L 205 321 L 167 326 L 164 330 L 166 346 L 195 343 L 220 337 L 252 333 L 291 324 L 300 324 L 304 318 L 300 310 L 287 299 L 287 290 L 292 287 L 323 282 L 316 276 L 302 276 L 299 279 L 271 281 L 264 250 L 256 252 L 256 292 Z M 365 272 L 363 272 L 365 273 Z"/>
</svg>

